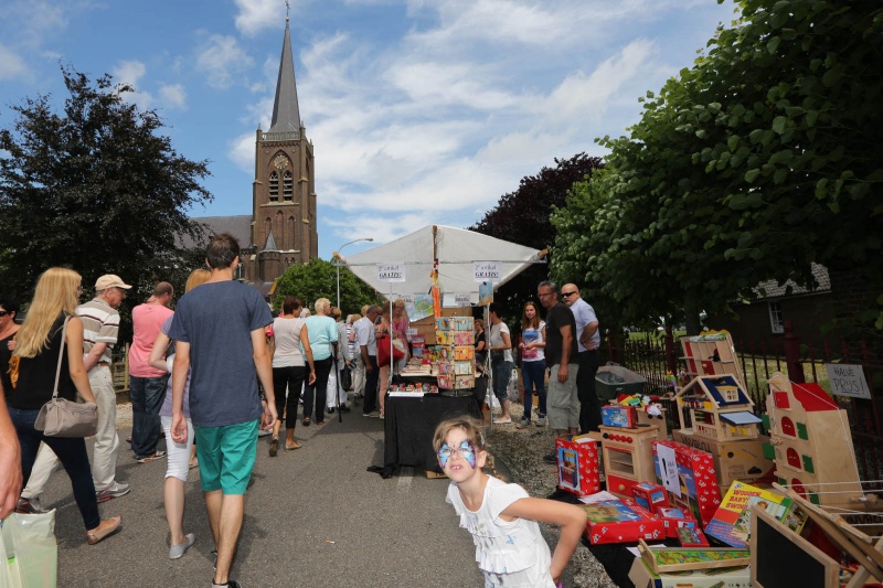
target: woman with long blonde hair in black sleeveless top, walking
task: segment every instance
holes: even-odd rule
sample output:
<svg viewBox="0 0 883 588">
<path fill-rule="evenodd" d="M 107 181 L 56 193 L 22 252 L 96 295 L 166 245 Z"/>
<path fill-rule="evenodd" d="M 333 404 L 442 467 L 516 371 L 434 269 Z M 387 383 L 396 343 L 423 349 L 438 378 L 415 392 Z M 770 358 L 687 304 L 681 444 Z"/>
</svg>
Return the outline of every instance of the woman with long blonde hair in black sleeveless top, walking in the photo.
<svg viewBox="0 0 883 588">
<path fill-rule="evenodd" d="M 58 397 L 76 400 L 79 394 L 86 402 L 95 402 L 83 365 L 83 321 L 76 316 L 83 292 L 81 281 L 79 274 L 61 267 L 50 268 L 40 276 L 28 318 L 15 338 L 12 363 L 17 364 L 18 379 L 13 377 L 15 386 L 6 394 L 9 415 L 21 445 L 24 483 L 31 477 L 42 441 L 58 457 L 71 478 L 74 500 L 86 526 L 86 541 L 95 545 L 119 528 L 120 517 L 102 521 L 98 514 L 85 439 L 46 437 L 34 427 L 40 408 L 52 398 L 60 356 Z"/>
</svg>

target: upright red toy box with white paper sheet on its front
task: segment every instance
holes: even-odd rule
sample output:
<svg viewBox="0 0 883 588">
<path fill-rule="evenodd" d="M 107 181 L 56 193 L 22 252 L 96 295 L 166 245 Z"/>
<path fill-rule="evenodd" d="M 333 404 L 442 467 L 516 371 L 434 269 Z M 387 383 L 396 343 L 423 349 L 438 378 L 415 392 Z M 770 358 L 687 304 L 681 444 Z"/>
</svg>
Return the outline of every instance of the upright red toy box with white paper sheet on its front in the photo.
<svg viewBox="0 0 883 588">
<path fill-rule="evenodd" d="M 712 455 L 677 441 L 655 440 L 651 446 L 657 480 L 668 490 L 672 506 L 689 509 L 696 521 L 708 524 L 721 505 L 721 489 L 717 485 Z M 673 451 L 673 468 L 671 464 L 660 463 L 660 447 Z M 677 484 L 678 492 L 671 490 L 667 480 Z"/>
</svg>

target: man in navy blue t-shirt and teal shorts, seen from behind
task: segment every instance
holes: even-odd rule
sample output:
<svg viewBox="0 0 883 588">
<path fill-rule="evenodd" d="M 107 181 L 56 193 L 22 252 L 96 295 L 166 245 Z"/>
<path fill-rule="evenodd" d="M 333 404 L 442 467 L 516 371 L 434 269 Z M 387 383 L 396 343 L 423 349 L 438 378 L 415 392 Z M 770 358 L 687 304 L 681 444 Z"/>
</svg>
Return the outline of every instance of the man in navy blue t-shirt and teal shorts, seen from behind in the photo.
<svg viewBox="0 0 883 588">
<path fill-rule="evenodd" d="M 169 338 L 177 341 L 172 370 L 172 439 L 187 441 L 184 383 L 196 437 L 202 491 L 217 562 L 213 586 L 238 588 L 228 578 L 243 520 L 245 490 L 257 457 L 258 420 L 276 421 L 273 368 L 264 330 L 273 322 L 260 295 L 237 281 L 240 244 L 222 233 L 209 243 L 212 277 L 178 301 Z M 258 397 L 257 378 L 265 397 Z"/>
</svg>

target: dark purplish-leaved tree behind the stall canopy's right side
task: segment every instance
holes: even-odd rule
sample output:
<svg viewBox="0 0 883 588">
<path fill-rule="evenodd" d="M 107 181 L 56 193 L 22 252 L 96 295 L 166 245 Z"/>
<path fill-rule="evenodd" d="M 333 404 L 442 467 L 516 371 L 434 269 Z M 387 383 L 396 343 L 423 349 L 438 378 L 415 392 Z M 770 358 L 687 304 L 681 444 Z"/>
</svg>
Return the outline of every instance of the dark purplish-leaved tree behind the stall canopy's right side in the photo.
<svg viewBox="0 0 883 588">
<path fill-rule="evenodd" d="M 550 214 L 563 206 L 575 182 L 591 178 L 603 167 L 599 158 L 577 153 L 571 159 L 555 159 L 555 168 L 543 168 L 536 175 L 522 178 L 518 190 L 503 195 L 497 206 L 470 231 L 509 240 L 538 250 L 555 240 Z M 536 265 L 522 271 L 496 293 L 509 322 L 520 319 L 528 300 L 536 301 L 536 285 L 549 277 L 549 267 Z"/>
</svg>

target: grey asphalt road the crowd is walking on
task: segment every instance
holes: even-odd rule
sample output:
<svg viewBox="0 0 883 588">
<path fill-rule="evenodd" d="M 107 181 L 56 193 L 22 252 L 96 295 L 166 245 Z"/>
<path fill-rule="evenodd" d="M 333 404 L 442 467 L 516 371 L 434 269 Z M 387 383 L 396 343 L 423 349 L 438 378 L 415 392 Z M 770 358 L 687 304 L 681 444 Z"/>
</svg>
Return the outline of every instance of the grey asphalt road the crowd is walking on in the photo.
<svg viewBox="0 0 883 588">
<path fill-rule="evenodd" d="M 128 434 L 120 429 L 120 441 Z M 382 420 L 354 407 L 342 424 L 334 416 L 321 427 L 298 425 L 296 438 L 302 448 L 276 458 L 269 437 L 258 441 L 232 578 L 246 588 L 482 585 L 472 539 L 445 503 L 445 479 L 409 468 L 387 480 L 365 471 L 383 461 Z M 117 479 L 132 490 L 100 505 L 104 517 L 121 515 L 123 527 L 94 546 L 70 480 L 53 475 L 42 500 L 57 509 L 58 587 L 211 586 L 214 544 L 199 471 L 191 470 L 184 514 L 196 543 L 177 560 L 168 558 L 164 473 L 164 459 L 137 463 L 120 443 Z"/>
</svg>

